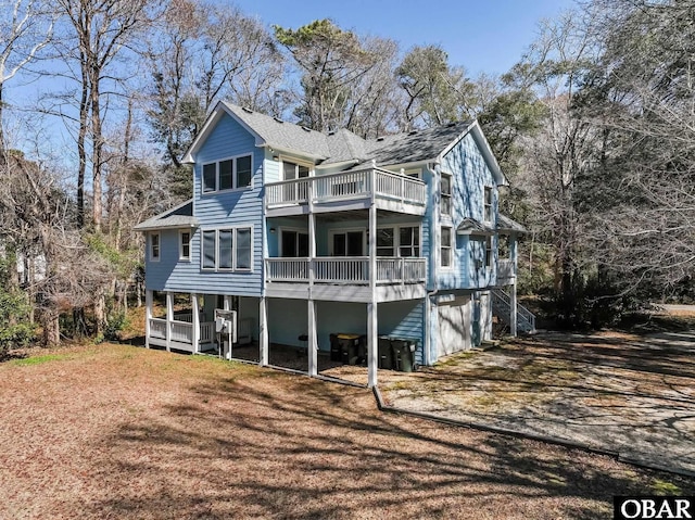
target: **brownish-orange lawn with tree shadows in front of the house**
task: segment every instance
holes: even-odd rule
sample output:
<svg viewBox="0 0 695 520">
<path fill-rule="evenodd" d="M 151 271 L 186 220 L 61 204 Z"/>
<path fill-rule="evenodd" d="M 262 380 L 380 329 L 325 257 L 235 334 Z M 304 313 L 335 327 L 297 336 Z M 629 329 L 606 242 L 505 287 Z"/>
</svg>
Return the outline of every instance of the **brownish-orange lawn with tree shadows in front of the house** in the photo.
<svg viewBox="0 0 695 520">
<path fill-rule="evenodd" d="M 0 364 L 0 519 L 609 518 L 695 482 L 383 415 L 364 389 L 103 344 Z"/>
</svg>

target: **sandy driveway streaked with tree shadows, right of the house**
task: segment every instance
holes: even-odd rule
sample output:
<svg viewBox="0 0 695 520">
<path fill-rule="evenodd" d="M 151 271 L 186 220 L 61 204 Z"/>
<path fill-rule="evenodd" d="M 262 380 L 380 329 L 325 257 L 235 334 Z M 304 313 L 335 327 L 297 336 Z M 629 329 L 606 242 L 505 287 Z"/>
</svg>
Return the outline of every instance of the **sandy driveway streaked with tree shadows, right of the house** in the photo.
<svg viewBox="0 0 695 520">
<path fill-rule="evenodd" d="M 397 408 L 695 473 L 695 331 L 545 333 L 380 378 Z"/>
</svg>

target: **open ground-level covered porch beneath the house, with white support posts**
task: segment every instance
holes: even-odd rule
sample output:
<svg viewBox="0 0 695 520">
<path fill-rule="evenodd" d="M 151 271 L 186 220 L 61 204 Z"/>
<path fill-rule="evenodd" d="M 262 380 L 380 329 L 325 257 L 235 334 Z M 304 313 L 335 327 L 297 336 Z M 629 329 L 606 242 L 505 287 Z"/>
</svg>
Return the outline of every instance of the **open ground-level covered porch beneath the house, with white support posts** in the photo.
<svg viewBox="0 0 695 520">
<path fill-rule="evenodd" d="M 425 307 L 424 299 L 377 305 L 148 291 L 146 340 L 148 347 L 375 385 L 378 369 L 427 363 Z M 217 333 L 216 308 L 236 310 L 236 342 Z"/>
</svg>

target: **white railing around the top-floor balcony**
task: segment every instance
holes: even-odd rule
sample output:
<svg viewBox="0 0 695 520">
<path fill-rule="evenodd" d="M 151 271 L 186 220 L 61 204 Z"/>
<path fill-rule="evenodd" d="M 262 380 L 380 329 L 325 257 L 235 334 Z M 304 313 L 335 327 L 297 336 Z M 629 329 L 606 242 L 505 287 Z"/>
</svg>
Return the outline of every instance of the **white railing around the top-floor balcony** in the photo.
<svg viewBox="0 0 695 520">
<path fill-rule="evenodd" d="M 342 172 L 266 185 L 268 207 L 375 196 L 425 206 L 425 182 L 382 169 Z"/>
</svg>

